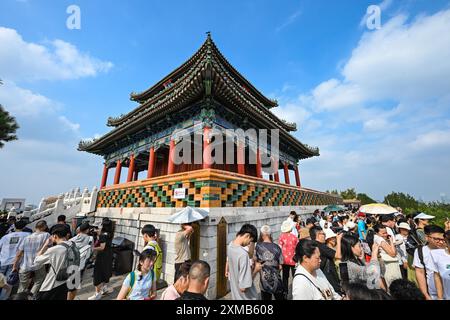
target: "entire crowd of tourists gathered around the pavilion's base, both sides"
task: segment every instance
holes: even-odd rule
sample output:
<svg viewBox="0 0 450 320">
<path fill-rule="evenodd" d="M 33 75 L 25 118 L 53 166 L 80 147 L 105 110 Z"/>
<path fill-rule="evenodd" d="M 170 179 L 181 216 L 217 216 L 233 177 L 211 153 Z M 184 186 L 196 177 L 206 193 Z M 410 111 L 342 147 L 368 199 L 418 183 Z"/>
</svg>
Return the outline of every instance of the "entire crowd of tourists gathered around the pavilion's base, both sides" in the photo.
<svg viewBox="0 0 450 320">
<path fill-rule="evenodd" d="M 233 300 L 450 300 L 450 221 L 445 229 L 425 213 L 365 215 L 320 212 L 302 221 L 292 211 L 279 230 L 244 224 L 227 247 L 225 277 Z M 65 217 L 34 232 L 25 221 L 0 224 L 0 299 L 73 300 L 93 267 L 95 293 L 112 294 L 114 224 Z M 159 296 L 163 251 L 158 230 L 141 229 L 144 247 L 117 300 L 206 300 L 211 268 L 192 261 L 191 224 L 175 235 L 174 279 Z M 277 235 L 277 239 L 274 239 Z M 72 270 L 71 268 L 75 268 Z"/>
</svg>

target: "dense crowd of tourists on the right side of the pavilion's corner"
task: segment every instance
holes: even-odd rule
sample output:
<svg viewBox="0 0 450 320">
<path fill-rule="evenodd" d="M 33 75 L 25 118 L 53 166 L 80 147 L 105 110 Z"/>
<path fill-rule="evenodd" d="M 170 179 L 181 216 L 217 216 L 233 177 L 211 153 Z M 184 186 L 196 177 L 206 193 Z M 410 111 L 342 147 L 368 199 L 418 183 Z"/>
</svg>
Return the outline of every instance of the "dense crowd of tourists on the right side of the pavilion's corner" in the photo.
<svg viewBox="0 0 450 320">
<path fill-rule="evenodd" d="M 433 218 L 401 211 L 366 216 L 316 210 L 303 223 L 291 212 L 278 243 L 269 226 L 260 229 L 258 238 L 254 226 L 244 225 L 228 247 L 231 296 L 450 300 L 450 221 L 443 229 L 430 223 Z M 260 293 L 254 281 L 258 274 Z"/>
</svg>

